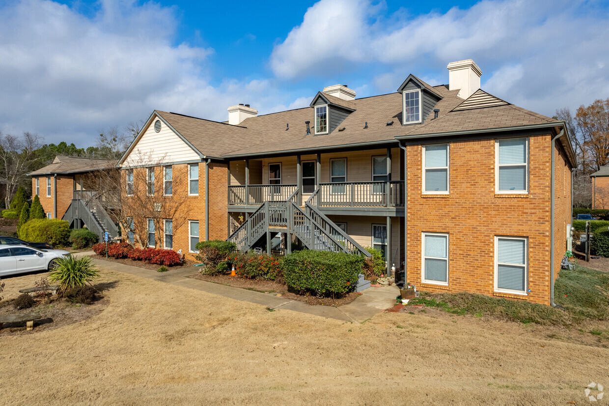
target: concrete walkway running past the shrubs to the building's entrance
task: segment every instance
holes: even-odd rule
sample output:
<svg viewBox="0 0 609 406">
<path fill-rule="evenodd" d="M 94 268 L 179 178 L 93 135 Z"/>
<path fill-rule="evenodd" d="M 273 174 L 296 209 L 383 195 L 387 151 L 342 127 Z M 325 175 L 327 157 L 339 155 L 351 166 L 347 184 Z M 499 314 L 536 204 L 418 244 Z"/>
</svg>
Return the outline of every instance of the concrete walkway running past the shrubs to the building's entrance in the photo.
<svg viewBox="0 0 609 406">
<path fill-rule="evenodd" d="M 91 254 L 93 254 L 93 251 L 82 252 L 76 255 Z M 205 280 L 191 279 L 189 276 L 196 274 L 200 270 L 195 267 L 173 269 L 168 272 L 157 272 L 152 269 L 144 269 L 139 268 L 138 266 L 124 265 L 117 262 L 97 259 L 94 259 L 93 261 L 96 265 L 113 271 L 125 272 L 147 279 L 171 283 L 172 285 L 230 297 L 231 299 L 238 301 L 261 304 L 272 308 L 273 310 L 294 310 L 295 312 L 309 313 L 311 315 L 358 323 L 364 322 L 372 316 L 381 313 L 386 308 L 391 307 L 395 304 L 396 296 L 400 296 L 400 289 L 393 285 L 382 288 L 368 288 L 362 291 L 362 295 L 357 297 L 353 302 L 340 307 L 312 306 L 305 302 L 286 299 L 285 297 L 274 296 L 273 294 L 233 288 L 226 285 L 220 285 L 219 283 L 206 282 Z"/>
</svg>

